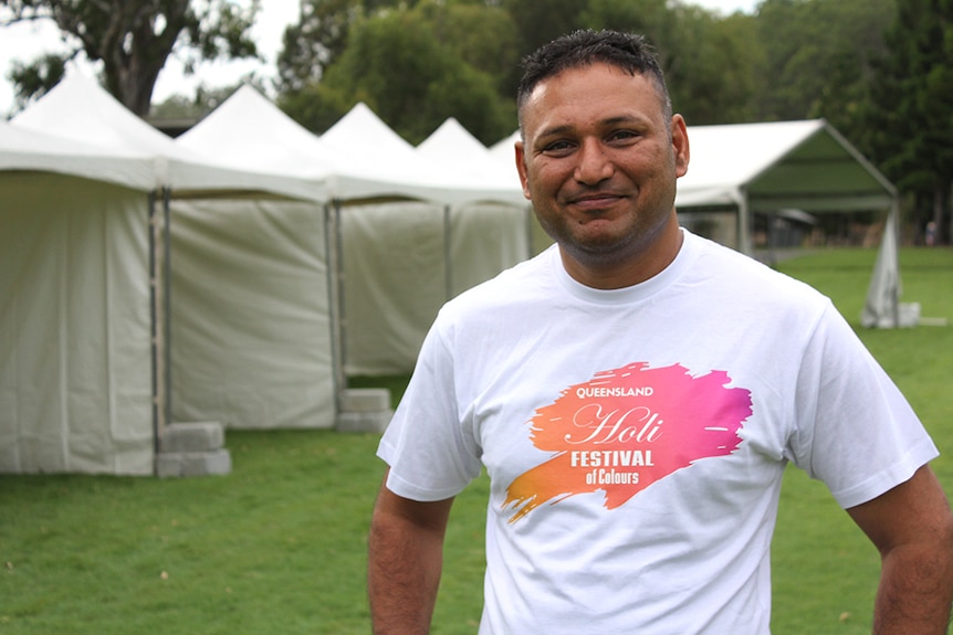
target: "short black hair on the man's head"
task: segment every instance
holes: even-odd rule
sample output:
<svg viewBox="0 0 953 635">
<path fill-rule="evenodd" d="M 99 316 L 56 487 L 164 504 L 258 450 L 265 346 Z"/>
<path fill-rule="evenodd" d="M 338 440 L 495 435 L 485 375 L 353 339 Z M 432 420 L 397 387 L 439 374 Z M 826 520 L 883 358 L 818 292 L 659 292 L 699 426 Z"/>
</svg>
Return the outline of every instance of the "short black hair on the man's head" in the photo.
<svg viewBox="0 0 953 635">
<path fill-rule="evenodd" d="M 639 74 L 651 80 L 662 100 L 666 120 L 671 119 L 671 97 L 652 45 L 643 35 L 609 30 L 574 31 L 523 57 L 523 77 L 516 91 L 517 112 L 522 114 L 530 95 L 543 80 L 568 68 L 597 63 L 617 66 L 631 75 Z"/>
</svg>

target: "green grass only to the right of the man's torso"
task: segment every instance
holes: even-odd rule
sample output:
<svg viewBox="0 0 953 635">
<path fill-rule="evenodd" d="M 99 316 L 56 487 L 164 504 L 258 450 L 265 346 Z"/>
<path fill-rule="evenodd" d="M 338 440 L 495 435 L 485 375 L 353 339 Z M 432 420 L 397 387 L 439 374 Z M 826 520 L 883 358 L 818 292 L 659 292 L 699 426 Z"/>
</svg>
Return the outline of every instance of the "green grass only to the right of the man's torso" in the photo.
<svg viewBox="0 0 953 635">
<path fill-rule="evenodd" d="M 898 383 L 940 446 L 933 468 L 953 493 L 953 326 L 867 330 L 859 315 L 876 252 L 842 250 L 781 268 L 830 296 Z M 903 250 L 903 301 L 953 322 L 953 251 Z M 870 633 L 879 558 L 827 489 L 789 468 L 785 475 L 774 567 L 773 631 L 778 634 Z"/>
</svg>

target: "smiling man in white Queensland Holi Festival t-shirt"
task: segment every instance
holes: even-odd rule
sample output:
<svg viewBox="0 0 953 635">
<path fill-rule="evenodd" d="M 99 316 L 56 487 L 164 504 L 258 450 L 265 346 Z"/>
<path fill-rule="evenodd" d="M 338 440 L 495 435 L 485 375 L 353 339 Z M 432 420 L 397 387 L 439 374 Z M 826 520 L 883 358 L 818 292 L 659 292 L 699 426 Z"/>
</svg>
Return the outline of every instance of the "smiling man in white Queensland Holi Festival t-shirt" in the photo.
<svg viewBox="0 0 953 635">
<path fill-rule="evenodd" d="M 556 246 L 448 303 L 378 454 L 374 632 L 427 633 L 453 497 L 491 479 L 482 635 L 768 633 L 782 474 L 880 550 L 875 631 L 945 633 L 936 448 L 832 305 L 678 226 L 689 140 L 639 36 L 525 61 L 523 189 Z"/>
</svg>

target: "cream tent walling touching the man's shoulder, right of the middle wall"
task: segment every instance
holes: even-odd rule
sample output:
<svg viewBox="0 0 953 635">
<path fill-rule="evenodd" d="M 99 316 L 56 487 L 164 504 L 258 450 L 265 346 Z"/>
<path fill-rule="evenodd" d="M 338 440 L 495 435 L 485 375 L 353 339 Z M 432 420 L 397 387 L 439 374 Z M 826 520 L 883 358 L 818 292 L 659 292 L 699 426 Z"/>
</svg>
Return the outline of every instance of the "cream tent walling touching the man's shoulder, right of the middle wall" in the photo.
<svg viewBox="0 0 953 635">
<path fill-rule="evenodd" d="M 530 257 L 527 214 L 501 203 L 345 207 L 345 374 L 412 370 L 444 301 Z"/>
</svg>

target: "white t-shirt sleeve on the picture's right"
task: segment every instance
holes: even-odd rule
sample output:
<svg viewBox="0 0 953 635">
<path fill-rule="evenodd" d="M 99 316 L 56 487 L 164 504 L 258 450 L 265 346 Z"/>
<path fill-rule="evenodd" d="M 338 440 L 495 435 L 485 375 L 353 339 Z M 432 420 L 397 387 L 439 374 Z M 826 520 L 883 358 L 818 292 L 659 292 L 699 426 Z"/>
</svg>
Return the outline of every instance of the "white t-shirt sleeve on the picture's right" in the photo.
<svg viewBox="0 0 953 635">
<path fill-rule="evenodd" d="M 803 357 L 793 459 L 860 505 L 939 455 L 907 399 L 828 303 Z"/>
</svg>

